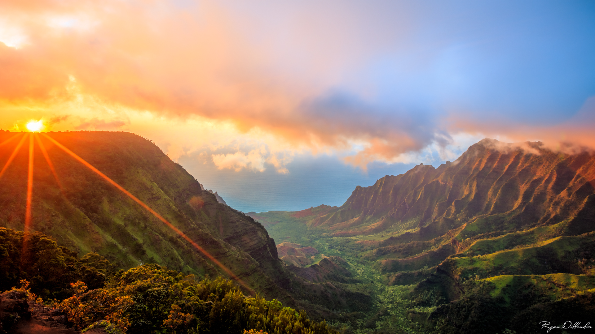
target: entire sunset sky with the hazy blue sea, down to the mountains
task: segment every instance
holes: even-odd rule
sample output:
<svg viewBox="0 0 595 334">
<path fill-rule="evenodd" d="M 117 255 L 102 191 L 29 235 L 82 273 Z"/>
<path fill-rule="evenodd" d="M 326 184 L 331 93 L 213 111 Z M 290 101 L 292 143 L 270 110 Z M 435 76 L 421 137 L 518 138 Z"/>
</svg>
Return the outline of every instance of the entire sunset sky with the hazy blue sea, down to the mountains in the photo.
<svg viewBox="0 0 595 334">
<path fill-rule="evenodd" d="M 595 148 L 593 1 L 0 2 L 0 128 L 129 131 L 244 212 L 482 138 Z"/>
</svg>

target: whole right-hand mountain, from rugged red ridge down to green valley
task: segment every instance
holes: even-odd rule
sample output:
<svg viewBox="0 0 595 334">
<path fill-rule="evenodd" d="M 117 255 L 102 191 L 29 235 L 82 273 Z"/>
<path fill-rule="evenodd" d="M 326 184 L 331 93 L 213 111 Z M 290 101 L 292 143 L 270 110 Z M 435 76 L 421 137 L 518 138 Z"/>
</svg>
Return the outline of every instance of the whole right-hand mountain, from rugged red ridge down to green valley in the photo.
<svg viewBox="0 0 595 334">
<path fill-rule="evenodd" d="M 540 312 L 555 323 L 595 311 L 595 156 L 575 152 L 484 139 L 455 162 L 358 186 L 340 207 L 249 215 L 280 251 L 299 245 L 282 259 L 306 281 L 383 282 L 364 284 L 377 326 L 406 316 L 428 332 L 530 333 Z M 354 275 L 330 276 L 333 256 Z"/>
</svg>

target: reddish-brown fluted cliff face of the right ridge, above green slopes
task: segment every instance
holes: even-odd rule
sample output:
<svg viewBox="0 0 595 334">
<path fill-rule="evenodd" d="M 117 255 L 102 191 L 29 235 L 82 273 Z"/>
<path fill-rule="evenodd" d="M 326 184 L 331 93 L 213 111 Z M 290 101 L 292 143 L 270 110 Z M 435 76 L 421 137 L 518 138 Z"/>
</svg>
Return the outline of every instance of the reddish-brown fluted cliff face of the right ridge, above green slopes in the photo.
<svg viewBox="0 0 595 334">
<path fill-rule="evenodd" d="M 484 139 L 455 162 L 419 165 L 370 187 L 358 186 L 343 206 L 312 215 L 307 224 L 336 236 L 374 234 L 394 225 L 420 228 L 405 237 L 411 241 L 430 240 L 487 217 L 492 231 L 571 219 L 584 222 L 573 225 L 577 232 L 587 232 L 593 229 L 588 213 L 594 185 L 590 153 L 568 155 L 541 149 L 539 143 Z"/>
</svg>

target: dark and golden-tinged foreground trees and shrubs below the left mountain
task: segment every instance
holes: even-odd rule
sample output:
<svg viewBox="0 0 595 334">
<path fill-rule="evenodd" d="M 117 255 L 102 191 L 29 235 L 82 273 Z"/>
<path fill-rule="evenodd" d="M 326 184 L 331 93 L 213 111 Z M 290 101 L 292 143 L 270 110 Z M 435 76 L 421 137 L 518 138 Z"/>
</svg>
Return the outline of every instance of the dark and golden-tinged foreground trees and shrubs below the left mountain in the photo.
<svg viewBox="0 0 595 334">
<path fill-rule="evenodd" d="M 0 289 L 24 292 L 29 303 L 65 311 L 78 330 L 109 333 L 334 333 L 305 311 L 244 295 L 234 282 L 144 264 L 114 273 L 96 253 L 81 259 L 40 232 L 0 228 Z M 30 282 L 31 283 L 30 283 Z"/>
</svg>

